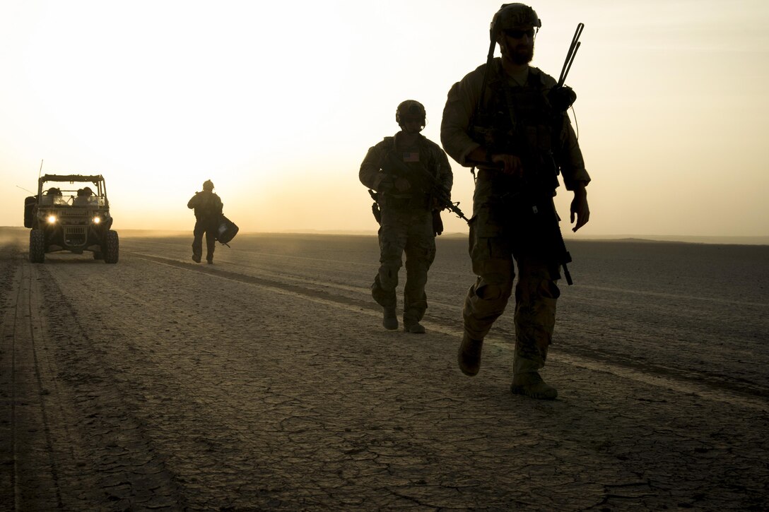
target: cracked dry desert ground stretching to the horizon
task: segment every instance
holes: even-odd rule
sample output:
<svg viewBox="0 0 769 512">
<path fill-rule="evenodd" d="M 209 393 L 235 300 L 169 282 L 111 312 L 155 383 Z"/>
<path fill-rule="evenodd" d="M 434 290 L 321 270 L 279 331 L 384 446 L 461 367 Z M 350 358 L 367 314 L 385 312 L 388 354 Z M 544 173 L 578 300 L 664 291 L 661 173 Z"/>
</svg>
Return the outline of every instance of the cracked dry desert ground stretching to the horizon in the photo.
<svg viewBox="0 0 769 512">
<path fill-rule="evenodd" d="M 509 312 L 456 368 L 464 238 L 414 335 L 381 328 L 374 237 L 241 234 L 208 266 L 127 236 L 116 265 L 30 264 L 26 234 L 0 249 L 3 510 L 769 507 L 767 248 L 570 243 L 541 402 L 508 391 Z"/>
</svg>

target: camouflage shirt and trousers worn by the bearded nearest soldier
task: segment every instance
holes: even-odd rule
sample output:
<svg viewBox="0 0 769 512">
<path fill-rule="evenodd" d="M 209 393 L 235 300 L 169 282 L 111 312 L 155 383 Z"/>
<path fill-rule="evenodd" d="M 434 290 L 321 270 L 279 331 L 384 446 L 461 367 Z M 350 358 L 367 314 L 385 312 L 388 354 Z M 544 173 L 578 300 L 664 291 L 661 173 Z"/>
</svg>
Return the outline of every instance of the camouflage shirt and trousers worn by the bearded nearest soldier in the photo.
<svg viewBox="0 0 769 512">
<path fill-rule="evenodd" d="M 556 168 L 564 185 L 574 190 L 577 181 L 590 181 L 568 115 L 553 111 L 547 92 L 554 78 L 529 67 L 524 85 L 508 78 L 501 59 L 494 58 L 484 92 L 484 119 L 475 125 L 485 129 L 478 135 L 471 127 L 486 65 L 471 71 L 448 93 L 441 123 L 441 142 L 454 160 L 471 167 L 468 155 L 481 146 L 520 155 L 521 178 L 502 175 L 491 165 L 478 165 L 470 226 L 470 255 L 477 281 L 464 301 L 465 336 L 483 340 L 491 324 L 503 313 L 513 289 L 514 263 L 518 264 L 515 287 L 514 373 L 537 371 L 544 366 L 555 324 L 555 304 L 560 291 L 558 262 L 548 245 L 546 231 L 534 221 L 528 191 L 540 191 L 537 201 L 552 204 L 558 187 Z M 517 126 L 512 126 L 516 123 Z M 494 148 L 483 140 L 489 133 L 504 147 Z M 515 135 L 521 134 L 516 140 Z M 483 144 L 481 144 L 483 143 Z"/>
</svg>

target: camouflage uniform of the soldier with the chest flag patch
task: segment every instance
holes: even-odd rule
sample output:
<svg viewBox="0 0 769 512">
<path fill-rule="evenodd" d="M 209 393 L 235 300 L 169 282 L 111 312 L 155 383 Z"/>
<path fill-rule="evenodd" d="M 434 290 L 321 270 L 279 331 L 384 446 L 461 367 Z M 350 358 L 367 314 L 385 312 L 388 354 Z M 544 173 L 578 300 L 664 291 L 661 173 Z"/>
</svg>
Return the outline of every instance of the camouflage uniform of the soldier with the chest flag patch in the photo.
<svg viewBox="0 0 769 512">
<path fill-rule="evenodd" d="M 398 271 L 403 264 L 401 256 L 405 252 L 403 321 L 408 326 L 420 321 L 428 307 L 424 286 L 435 258 L 432 198 L 425 193 L 430 190 L 430 185 L 419 173 L 428 171 L 448 191 L 451 190 L 453 175 L 440 146 L 424 135 L 418 135 L 415 147 L 403 148 L 399 144 L 400 136 L 398 132 L 394 137 L 384 138 L 368 150 L 359 178 L 363 185 L 378 192 L 377 202 L 381 208 L 381 265 L 371 286 L 371 294 L 382 307 L 396 307 L 395 288 L 398 286 Z M 390 158 L 400 165 L 388 162 Z M 411 188 L 408 191 L 394 189 L 394 179 L 398 176 L 409 181 Z"/>
</svg>

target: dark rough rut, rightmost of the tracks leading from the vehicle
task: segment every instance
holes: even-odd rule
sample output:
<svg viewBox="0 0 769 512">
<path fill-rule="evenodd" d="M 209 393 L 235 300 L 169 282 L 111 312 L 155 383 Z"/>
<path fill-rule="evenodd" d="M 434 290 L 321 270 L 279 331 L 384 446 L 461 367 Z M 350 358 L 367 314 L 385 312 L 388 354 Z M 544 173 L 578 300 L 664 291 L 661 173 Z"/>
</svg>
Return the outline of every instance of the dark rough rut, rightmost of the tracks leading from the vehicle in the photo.
<svg viewBox="0 0 769 512">
<path fill-rule="evenodd" d="M 95 343 L 94 337 L 102 334 L 83 324 L 88 315 L 73 307 L 54 278 L 42 281 L 42 291 L 59 298 L 47 301 L 45 315 L 50 331 L 60 337 L 58 377 L 72 390 L 71 403 L 78 408 L 80 460 L 88 461 L 85 482 L 98 490 L 95 503 L 111 503 L 112 510 L 183 508 L 185 498 L 174 474 L 117 385 L 111 361 Z"/>
</svg>

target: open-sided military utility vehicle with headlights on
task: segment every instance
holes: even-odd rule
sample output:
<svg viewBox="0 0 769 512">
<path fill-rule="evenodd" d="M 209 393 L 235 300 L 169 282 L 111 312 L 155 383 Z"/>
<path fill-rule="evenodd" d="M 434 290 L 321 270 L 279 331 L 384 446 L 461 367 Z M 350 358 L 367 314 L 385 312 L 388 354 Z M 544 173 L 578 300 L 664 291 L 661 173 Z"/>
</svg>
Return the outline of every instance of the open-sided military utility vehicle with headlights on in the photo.
<svg viewBox="0 0 769 512">
<path fill-rule="evenodd" d="M 118 262 L 118 233 L 112 228 L 102 175 L 42 175 L 38 194 L 24 201 L 29 233 L 29 261 L 43 263 L 45 253 L 92 251 L 95 260 Z"/>
</svg>

